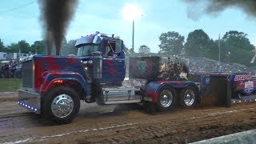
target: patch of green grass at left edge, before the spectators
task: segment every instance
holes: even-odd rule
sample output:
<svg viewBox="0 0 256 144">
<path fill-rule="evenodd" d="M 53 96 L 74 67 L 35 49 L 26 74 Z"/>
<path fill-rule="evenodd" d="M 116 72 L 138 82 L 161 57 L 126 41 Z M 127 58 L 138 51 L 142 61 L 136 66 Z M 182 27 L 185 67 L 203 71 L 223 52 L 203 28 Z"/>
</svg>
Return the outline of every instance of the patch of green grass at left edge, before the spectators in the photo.
<svg viewBox="0 0 256 144">
<path fill-rule="evenodd" d="M 0 92 L 16 91 L 22 87 L 22 78 L 0 78 Z"/>
</svg>

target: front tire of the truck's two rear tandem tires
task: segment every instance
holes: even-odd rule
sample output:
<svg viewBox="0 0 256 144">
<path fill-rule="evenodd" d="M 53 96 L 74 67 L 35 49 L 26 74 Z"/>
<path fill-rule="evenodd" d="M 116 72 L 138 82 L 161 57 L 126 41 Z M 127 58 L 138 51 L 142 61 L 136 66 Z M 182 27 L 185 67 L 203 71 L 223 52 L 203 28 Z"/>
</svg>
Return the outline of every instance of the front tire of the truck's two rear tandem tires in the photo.
<svg viewBox="0 0 256 144">
<path fill-rule="evenodd" d="M 157 109 L 159 111 L 170 110 L 176 105 L 177 94 L 174 88 L 163 86 L 158 94 Z"/>
</svg>

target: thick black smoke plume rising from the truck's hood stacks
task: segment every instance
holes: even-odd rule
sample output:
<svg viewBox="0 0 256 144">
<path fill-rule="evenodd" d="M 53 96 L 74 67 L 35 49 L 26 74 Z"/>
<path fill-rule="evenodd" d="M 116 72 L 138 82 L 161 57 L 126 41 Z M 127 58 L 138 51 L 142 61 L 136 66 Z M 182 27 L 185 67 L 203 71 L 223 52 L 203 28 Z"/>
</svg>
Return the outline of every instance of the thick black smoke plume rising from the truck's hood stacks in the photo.
<svg viewBox="0 0 256 144">
<path fill-rule="evenodd" d="M 77 0 L 38 0 L 41 6 L 41 17 L 44 22 L 44 34 L 48 54 L 51 54 L 53 44 L 56 55 L 60 54 L 62 39 L 67 26 L 74 14 Z"/>
</svg>

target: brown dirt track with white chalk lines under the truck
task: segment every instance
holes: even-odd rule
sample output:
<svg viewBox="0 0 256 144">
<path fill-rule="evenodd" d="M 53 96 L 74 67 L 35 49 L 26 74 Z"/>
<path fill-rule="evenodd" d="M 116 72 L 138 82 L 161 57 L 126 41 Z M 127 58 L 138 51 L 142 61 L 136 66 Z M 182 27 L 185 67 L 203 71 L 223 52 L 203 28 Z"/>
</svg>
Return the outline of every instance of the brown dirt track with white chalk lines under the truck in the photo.
<svg viewBox="0 0 256 144">
<path fill-rule="evenodd" d="M 0 143 L 195 142 L 256 128 L 256 102 L 146 114 L 139 106 L 96 106 L 82 102 L 74 122 L 55 126 L 0 94 Z"/>
</svg>

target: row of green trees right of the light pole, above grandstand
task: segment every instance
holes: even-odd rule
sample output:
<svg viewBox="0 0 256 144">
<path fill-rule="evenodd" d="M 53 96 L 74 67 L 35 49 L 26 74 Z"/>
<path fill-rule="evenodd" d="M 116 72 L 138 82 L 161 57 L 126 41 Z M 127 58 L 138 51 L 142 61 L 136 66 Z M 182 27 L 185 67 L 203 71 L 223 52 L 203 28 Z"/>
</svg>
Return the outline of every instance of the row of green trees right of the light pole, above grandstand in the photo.
<svg viewBox="0 0 256 144">
<path fill-rule="evenodd" d="M 246 66 L 254 57 L 255 46 L 246 38 L 247 34 L 237 30 L 226 32 L 217 40 L 209 37 L 203 30 L 194 30 L 186 38 L 175 31 L 168 31 L 159 36 L 160 44 L 158 54 L 182 55 L 186 57 L 204 57 L 221 62 L 235 62 Z M 220 47 L 220 49 L 219 49 Z M 150 54 L 150 47 L 142 45 L 139 54 Z"/>
</svg>

